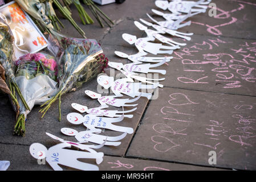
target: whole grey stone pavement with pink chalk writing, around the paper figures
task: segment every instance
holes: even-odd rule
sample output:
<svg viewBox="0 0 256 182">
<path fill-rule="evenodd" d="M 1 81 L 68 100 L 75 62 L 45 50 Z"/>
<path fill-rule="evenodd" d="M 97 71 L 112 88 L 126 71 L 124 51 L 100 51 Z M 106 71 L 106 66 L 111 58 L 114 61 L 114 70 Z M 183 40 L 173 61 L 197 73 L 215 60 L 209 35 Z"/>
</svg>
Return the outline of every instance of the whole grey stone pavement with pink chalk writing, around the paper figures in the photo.
<svg viewBox="0 0 256 182">
<path fill-rule="evenodd" d="M 135 47 L 121 35 L 145 36 L 133 21 L 143 18 L 150 22 L 146 13 L 153 15 L 151 9 L 157 9 L 154 2 L 127 0 L 121 5 L 102 6 L 115 20 L 112 28 L 100 28 L 97 22 L 83 26 L 75 11 L 74 19 L 84 28 L 87 38 L 99 41 L 109 60 L 129 63 L 115 56 L 114 51 L 136 53 Z M 210 17 L 208 12 L 198 14 L 190 18 L 191 26 L 178 30 L 194 35 L 190 41 L 174 38 L 187 45 L 174 51 L 172 61 L 157 68 L 167 71 L 160 76 L 165 77 L 161 82 L 164 88 L 156 90 L 157 99 L 140 98 L 134 117 L 120 123 L 133 127 L 135 133 L 121 140 L 120 146 L 97 150 L 105 154 L 100 170 L 256 169 L 256 2 L 212 2 L 217 5 L 217 16 Z M 80 37 L 67 20 L 62 22 L 66 25 L 63 34 Z M 108 68 L 106 73 L 120 72 Z M 89 107 L 99 105 L 85 96 L 87 89 L 96 92 L 96 78 L 62 97 L 61 122 L 58 103 L 52 105 L 43 119 L 39 119 L 39 106 L 35 106 L 27 117 L 25 137 L 12 135 L 14 111 L 8 98 L 0 95 L 0 160 L 10 160 L 9 170 L 51 170 L 48 164 L 38 165 L 29 154 L 29 146 L 34 142 L 47 147 L 54 145 L 55 141 L 45 132 L 71 140 L 60 133 L 62 127 L 84 130 L 83 126 L 68 123 L 65 116 L 74 111 L 72 102 Z M 107 130 L 104 134 L 119 135 Z M 209 164 L 210 151 L 216 152 L 217 164 Z"/>
</svg>

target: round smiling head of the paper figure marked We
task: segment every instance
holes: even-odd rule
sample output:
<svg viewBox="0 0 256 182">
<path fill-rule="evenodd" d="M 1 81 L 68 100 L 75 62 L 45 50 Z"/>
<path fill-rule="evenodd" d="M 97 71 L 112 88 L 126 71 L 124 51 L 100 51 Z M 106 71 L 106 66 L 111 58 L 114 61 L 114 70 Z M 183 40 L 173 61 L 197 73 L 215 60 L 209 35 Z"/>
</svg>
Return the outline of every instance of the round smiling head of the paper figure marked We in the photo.
<svg viewBox="0 0 256 182">
<path fill-rule="evenodd" d="M 35 159 L 44 159 L 46 158 L 47 148 L 43 144 L 33 143 L 29 147 L 30 154 Z"/>
</svg>

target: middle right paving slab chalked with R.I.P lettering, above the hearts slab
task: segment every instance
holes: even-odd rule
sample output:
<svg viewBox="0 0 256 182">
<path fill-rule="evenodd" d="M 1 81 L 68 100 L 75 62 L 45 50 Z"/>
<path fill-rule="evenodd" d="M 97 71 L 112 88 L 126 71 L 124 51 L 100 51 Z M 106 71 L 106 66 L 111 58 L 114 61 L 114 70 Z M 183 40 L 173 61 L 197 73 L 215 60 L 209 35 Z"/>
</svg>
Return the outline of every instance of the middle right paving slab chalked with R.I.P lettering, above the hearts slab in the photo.
<svg viewBox="0 0 256 182">
<path fill-rule="evenodd" d="M 157 67 L 166 69 L 164 86 L 255 96 L 255 40 L 193 35 L 186 43 Z"/>
</svg>

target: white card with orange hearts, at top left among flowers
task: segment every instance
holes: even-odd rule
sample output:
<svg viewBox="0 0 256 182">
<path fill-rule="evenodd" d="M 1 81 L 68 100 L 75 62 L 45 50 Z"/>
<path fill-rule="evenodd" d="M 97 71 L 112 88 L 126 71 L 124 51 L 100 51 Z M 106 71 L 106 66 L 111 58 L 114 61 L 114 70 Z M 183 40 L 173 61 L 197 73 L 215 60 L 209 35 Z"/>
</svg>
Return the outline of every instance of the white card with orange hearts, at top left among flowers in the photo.
<svg viewBox="0 0 256 182">
<path fill-rule="evenodd" d="M 11 1 L 1 6 L 0 14 L 13 33 L 14 53 L 17 59 L 47 47 L 47 39 L 17 2 Z"/>
</svg>

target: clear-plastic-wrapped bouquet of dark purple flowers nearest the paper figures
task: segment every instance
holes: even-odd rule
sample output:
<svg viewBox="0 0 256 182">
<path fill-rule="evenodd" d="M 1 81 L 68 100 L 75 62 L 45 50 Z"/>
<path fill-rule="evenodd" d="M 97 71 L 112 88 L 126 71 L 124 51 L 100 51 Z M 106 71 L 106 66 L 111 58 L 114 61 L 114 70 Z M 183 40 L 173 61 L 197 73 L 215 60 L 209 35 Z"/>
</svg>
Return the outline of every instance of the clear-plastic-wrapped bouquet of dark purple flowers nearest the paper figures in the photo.
<svg viewBox="0 0 256 182">
<path fill-rule="evenodd" d="M 103 54 L 100 44 L 94 39 L 67 38 L 54 32 L 49 36 L 48 49 L 58 60 L 59 86 L 56 96 L 42 105 L 45 106 L 40 110 L 43 115 L 58 99 L 60 112 L 62 94 L 74 91 L 84 82 L 96 77 L 108 64 L 108 59 Z M 59 117 L 60 119 L 61 117 Z"/>
</svg>

